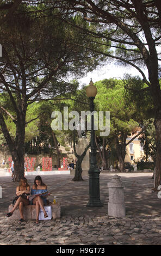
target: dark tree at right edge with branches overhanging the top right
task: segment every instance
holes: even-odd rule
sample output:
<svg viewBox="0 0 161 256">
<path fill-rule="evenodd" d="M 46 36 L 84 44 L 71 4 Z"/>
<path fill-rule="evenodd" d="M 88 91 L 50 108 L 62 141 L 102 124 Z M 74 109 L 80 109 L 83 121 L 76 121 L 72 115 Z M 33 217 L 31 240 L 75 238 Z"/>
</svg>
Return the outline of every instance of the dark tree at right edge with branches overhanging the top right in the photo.
<svg viewBox="0 0 161 256">
<path fill-rule="evenodd" d="M 110 46 L 114 50 L 113 53 L 104 51 L 104 56 L 121 65 L 133 66 L 147 84 L 146 90 L 151 94 L 154 107 L 157 188 L 161 180 L 160 0 L 69 0 L 56 1 L 55 5 L 63 10 L 64 15 L 80 13 L 84 21 L 95 24 L 94 31 L 84 28 L 84 23 L 78 29 L 91 34 L 93 41 L 95 38 L 104 39 L 104 47 Z M 65 16 L 61 17 L 65 20 Z M 145 88 L 138 93 L 143 91 Z"/>
</svg>

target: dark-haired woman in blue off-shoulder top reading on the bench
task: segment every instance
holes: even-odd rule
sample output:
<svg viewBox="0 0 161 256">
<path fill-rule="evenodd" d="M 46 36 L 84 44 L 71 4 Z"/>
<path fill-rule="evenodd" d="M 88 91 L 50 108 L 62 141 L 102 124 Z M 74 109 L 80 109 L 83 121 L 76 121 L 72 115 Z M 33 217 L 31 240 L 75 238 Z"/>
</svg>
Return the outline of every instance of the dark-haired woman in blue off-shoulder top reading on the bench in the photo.
<svg viewBox="0 0 161 256">
<path fill-rule="evenodd" d="M 39 224 L 39 212 L 40 212 L 40 207 L 42 211 L 44 211 L 44 217 L 47 218 L 48 215 L 44 209 L 44 204 L 46 204 L 47 199 L 45 198 L 48 196 L 47 194 L 47 186 L 42 182 L 42 179 L 40 176 L 36 176 L 34 180 L 34 185 L 32 187 L 31 194 L 35 194 L 35 198 L 32 199 L 31 204 L 36 205 L 36 224 Z M 37 196 L 36 196 L 37 194 Z M 42 194 L 42 195 L 41 195 Z M 45 194 L 45 196 L 43 196 Z"/>
</svg>

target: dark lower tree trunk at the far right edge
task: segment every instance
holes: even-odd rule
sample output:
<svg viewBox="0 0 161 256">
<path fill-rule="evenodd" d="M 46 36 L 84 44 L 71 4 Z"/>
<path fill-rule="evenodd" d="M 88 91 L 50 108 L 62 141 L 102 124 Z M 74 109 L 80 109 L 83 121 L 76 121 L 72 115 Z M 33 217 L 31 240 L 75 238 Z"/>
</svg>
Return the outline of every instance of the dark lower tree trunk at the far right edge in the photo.
<svg viewBox="0 0 161 256">
<path fill-rule="evenodd" d="M 156 179 L 155 179 L 155 189 L 157 190 L 161 181 L 161 109 L 156 113 L 156 118 L 154 119 L 154 126 L 156 128 Z"/>
</svg>

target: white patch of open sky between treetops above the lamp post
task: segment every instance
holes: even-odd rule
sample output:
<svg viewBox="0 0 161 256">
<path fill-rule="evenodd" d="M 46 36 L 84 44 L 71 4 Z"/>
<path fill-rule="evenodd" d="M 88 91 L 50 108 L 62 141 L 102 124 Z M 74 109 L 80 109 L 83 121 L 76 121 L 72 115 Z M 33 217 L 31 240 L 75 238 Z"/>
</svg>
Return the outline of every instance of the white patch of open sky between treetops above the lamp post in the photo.
<svg viewBox="0 0 161 256">
<path fill-rule="evenodd" d="M 131 74 L 132 76 L 140 76 L 140 78 L 143 78 L 140 72 L 130 65 L 126 67 L 122 67 L 122 66 L 115 65 L 114 63 L 110 63 L 109 65 L 107 64 L 107 65 L 98 67 L 96 70 L 89 72 L 85 77 L 80 78 L 78 81 L 81 84 L 88 85 L 90 82 L 90 78 L 92 78 L 92 81 L 94 83 L 97 81 L 103 80 L 105 78 L 108 79 L 108 78 L 115 77 L 119 80 L 120 78 L 123 78 L 123 75 L 125 75 L 126 73 Z M 144 73 L 148 80 L 147 70 L 144 70 Z"/>
</svg>

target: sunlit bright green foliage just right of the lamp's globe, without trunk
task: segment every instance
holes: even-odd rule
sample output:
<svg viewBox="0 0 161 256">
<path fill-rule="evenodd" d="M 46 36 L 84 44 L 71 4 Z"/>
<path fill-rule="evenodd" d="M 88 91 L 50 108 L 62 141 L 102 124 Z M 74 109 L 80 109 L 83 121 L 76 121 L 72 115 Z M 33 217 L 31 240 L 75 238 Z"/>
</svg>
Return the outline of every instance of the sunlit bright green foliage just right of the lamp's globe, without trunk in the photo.
<svg viewBox="0 0 161 256">
<path fill-rule="evenodd" d="M 109 81 L 109 83 L 108 83 Z M 97 87 L 97 111 L 110 111 L 110 133 L 131 133 L 138 126 L 140 113 L 125 95 L 125 83 L 121 80 L 103 80 L 95 83 Z"/>
</svg>

